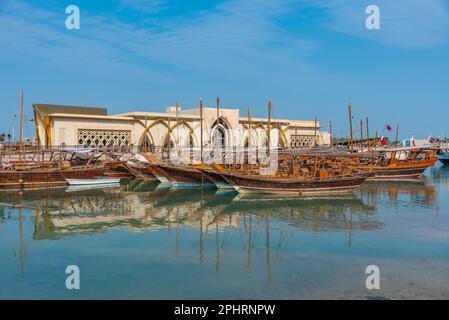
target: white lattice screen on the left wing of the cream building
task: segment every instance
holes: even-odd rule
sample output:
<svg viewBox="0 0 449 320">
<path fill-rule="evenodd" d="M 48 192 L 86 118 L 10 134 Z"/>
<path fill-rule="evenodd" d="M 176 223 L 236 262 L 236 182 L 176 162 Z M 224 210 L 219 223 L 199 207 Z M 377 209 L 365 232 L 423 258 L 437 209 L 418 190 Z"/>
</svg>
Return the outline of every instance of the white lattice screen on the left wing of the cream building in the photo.
<svg viewBox="0 0 449 320">
<path fill-rule="evenodd" d="M 79 129 L 78 144 L 85 147 L 127 146 L 131 144 L 131 131 Z"/>
</svg>

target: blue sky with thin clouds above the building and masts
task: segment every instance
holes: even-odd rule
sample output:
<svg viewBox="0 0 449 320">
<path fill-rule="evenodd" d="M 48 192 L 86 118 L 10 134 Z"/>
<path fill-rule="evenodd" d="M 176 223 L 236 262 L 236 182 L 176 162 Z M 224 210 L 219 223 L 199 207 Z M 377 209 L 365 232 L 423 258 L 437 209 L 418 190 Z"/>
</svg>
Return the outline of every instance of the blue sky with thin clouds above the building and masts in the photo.
<svg viewBox="0 0 449 320">
<path fill-rule="evenodd" d="M 81 29 L 65 28 L 65 7 Z M 376 4 L 381 30 L 365 28 Z M 251 107 L 348 132 L 347 104 L 370 130 L 449 136 L 449 1 L 0 0 L 0 131 L 25 107 L 106 106 L 109 113 Z M 28 124 L 33 133 L 32 123 Z M 26 133 L 25 133 L 26 134 Z"/>
</svg>

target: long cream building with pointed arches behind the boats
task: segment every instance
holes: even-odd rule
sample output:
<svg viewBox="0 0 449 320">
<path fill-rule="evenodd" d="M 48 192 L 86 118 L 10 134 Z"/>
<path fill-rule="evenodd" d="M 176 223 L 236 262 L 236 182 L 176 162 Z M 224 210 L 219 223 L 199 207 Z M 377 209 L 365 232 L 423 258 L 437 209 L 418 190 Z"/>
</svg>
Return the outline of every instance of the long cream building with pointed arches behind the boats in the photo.
<svg viewBox="0 0 449 320">
<path fill-rule="evenodd" d="M 36 136 L 41 146 L 137 146 L 144 151 L 170 145 L 198 147 L 201 140 L 199 107 L 165 112 L 108 115 L 106 108 L 33 104 Z M 307 147 L 329 144 L 327 132 L 314 120 L 240 117 L 239 109 L 203 108 L 203 145 L 219 139 L 225 147 L 266 145 Z"/>
</svg>

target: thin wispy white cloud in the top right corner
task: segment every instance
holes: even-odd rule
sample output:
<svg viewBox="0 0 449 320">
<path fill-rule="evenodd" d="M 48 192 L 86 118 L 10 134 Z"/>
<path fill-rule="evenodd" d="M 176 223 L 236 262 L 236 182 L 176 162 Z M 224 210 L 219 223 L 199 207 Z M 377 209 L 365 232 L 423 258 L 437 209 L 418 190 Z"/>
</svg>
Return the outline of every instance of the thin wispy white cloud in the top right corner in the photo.
<svg viewBox="0 0 449 320">
<path fill-rule="evenodd" d="M 431 48 L 449 40 L 449 14 L 443 0 L 323 0 L 339 32 L 402 48 Z M 365 8 L 380 8 L 381 30 L 365 28 Z"/>
</svg>

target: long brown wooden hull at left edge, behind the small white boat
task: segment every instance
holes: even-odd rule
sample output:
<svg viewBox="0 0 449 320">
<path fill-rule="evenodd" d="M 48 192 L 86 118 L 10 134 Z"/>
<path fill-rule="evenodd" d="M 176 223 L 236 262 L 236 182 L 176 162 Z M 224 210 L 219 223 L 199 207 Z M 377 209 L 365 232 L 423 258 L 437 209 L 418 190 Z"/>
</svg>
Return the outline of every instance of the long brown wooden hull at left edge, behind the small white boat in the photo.
<svg viewBox="0 0 449 320">
<path fill-rule="evenodd" d="M 0 188 L 46 188 L 67 185 L 66 179 L 91 179 L 102 176 L 105 167 L 69 169 L 0 170 Z"/>
</svg>

